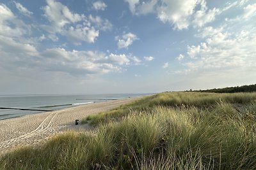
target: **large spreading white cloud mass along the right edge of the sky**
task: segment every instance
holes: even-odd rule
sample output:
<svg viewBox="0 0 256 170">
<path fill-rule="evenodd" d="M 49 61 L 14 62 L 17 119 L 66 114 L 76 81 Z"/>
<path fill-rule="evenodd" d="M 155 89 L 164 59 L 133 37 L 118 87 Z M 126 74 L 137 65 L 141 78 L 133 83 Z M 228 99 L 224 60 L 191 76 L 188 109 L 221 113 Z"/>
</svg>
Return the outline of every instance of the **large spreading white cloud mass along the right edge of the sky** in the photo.
<svg viewBox="0 0 256 170">
<path fill-rule="evenodd" d="M 241 9 L 246 2 L 228 4 L 228 8 Z M 226 18 L 219 27 L 198 29 L 196 37 L 202 38 L 202 43 L 187 47 L 188 60 L 182 62 L 185 69 L 176 73 L 228 71 L 237 74 L 238 70 L 255 70 L 256 29 L 252 21 L 256 10 L 253 6 L 255 4 L 247 4 L 239 15 Z"/>
</svg>

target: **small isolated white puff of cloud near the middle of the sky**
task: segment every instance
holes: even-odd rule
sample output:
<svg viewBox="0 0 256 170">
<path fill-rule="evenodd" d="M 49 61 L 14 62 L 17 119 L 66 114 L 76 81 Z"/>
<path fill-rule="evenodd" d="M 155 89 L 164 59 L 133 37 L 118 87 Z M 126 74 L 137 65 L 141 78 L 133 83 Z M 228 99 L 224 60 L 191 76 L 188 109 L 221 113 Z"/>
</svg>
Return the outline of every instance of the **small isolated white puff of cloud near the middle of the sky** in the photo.
<svg viewBox="0 0 256 170">
<path fill-rule="evenodd" d="M 127 34 L 123 34 L 121 38 L 117 36 L 115 39 L 118 41 L 118 48 L 127 48 L 132 45 L 133 41 L 138 40 L 139 38 L 135 34 L 129 32 Z"/>
</svg>

